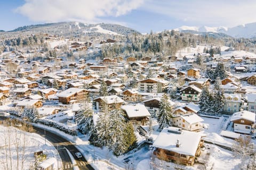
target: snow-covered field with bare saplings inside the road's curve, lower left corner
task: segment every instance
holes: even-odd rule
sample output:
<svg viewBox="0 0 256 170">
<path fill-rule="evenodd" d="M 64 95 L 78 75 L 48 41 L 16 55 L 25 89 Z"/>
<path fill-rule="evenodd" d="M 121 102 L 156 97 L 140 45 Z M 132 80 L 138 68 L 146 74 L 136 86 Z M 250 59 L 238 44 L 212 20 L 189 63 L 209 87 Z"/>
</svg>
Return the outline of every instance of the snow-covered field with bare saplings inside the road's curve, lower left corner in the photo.
<svg viewBox="0 0 256 170">
<path fill-rule="evenodd" d="M 43 151 L 46 159 L 59 156 L 54 146 L 47 140 L 45 145 L 44 138 L 36 133 L 0 125 L 0 134 L 0 169 L 21 169 L 22 157 L 23 169 L 29 169 L 30 164 L 35 163 L 34 152 L 37 151 Z"/>
</svg>

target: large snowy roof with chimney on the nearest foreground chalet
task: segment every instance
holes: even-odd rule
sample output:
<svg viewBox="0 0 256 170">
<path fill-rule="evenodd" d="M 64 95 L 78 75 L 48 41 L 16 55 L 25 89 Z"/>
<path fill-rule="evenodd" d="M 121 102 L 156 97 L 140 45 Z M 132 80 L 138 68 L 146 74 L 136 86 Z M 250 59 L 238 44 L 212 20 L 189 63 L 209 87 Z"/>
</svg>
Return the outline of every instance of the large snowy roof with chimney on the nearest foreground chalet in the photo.
<svg viewBox="0 0 256 170">
<path fill-rule="evenodd" d="M 154 147 L 184 155 L 196 155 L 196 150 L 201 140 L 201 135 L 199 133 L 182 130 L 181 134 L 177 134 L 168 132 L 168 129 L 178 131 L 180 128 L 164 128 L 153 143 Z M 179 147 L 176 147 L 177 140 L 179 140 L 180 143 Z"/>
</svg>

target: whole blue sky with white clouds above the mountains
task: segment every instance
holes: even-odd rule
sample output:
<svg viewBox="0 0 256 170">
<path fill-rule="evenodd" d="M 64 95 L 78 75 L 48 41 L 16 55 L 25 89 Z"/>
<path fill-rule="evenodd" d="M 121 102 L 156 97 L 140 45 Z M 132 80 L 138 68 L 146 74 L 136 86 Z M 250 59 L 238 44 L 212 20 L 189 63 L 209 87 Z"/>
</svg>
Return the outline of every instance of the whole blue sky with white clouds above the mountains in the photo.
<svg viewBox="0 0 256 170">
<path fill-rule="evenodd" d="M 182 25 L 234 27 L 256 22 L 254 0 L 6 0 L 0 30 L 60 21 L 116 23 L 142 33 Z"/>
</svg>

